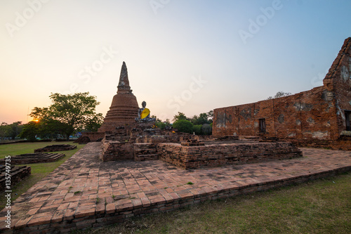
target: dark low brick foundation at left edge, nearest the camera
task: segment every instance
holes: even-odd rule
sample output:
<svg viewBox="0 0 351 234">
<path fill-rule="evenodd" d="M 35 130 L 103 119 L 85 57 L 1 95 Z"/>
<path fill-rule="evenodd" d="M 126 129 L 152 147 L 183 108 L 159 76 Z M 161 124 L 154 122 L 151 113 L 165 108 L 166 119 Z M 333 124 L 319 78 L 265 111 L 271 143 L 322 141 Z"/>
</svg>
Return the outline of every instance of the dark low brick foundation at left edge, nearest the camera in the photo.
<svg viewBox="0 0 351 234">
<path fill-rule="evenodd" d="M 11 188 L 15 186 L 16 183 L 22 181 L 22 179 L 30 176 L 30 167 L 22 166 L 15 167 L 11 166 Z M 6 189 L 6 167 L 4 165 L 0 165 L 0 193 L 3 193 Z"/>
</svg>

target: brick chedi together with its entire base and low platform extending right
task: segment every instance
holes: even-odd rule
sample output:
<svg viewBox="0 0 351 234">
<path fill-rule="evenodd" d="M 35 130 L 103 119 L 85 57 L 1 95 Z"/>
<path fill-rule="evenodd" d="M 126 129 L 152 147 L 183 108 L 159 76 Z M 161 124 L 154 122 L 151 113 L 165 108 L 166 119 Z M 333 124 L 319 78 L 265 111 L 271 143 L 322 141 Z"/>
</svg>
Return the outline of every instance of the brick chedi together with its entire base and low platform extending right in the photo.
<svg viewBox="0 0 351 234">
<path fill-rule="evenodd" d="M 291 143 L 238 141 L 234 136 L 225 137 L 221 142 L 211 141 L 211 136 L 161 131 L 154 119 L 140 118 L 144 110 L 150 116 L 150 110 L 145 108 L 144 102 L 143 108 L 138 108 L 129 86 L 126 63 L 121 67 L 117 88 L 117 95 L 99 129 L 105 134 L 100 155 L 104 162 L 163 160 L 182 169 L 196 169 L 302 157 L 302 152 Z"/>
</svg>

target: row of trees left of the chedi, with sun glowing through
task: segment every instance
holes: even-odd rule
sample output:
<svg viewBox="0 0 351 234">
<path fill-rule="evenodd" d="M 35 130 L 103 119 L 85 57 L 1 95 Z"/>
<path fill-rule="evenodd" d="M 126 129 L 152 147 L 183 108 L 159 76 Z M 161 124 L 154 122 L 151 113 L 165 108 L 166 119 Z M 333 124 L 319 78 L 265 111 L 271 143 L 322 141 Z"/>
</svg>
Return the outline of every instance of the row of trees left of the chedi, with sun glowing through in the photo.
<svg viewBox="0 0 351 234">
<path fill-rule="evenodd" d="M 48 108 L 34 108 L 29 114 L 33 120 L 27 124 L 14 122 L 0 125 L 0 139 L 65 138 L 78 131 L 98 131 L 102 124 L 102 114 L 95 112 L 98 101 L 89 93 L 62 95 L 51 93 L 52 104 Z"/>
</svg>

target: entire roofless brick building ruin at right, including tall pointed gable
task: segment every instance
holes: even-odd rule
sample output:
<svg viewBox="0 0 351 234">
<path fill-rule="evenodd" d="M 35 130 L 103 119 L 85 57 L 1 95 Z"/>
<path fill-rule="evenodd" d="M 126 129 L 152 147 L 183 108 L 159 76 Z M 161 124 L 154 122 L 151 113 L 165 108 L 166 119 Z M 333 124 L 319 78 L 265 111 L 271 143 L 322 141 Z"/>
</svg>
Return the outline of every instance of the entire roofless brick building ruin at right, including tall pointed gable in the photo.
<svg viewBox="0 0 351 234">
<path fill-rule="evenodd" d="M 260 136 L 351 150 L 351 38 L 345 39 L 323 86 L 213 112 L 215 137 Z"/>
</svg>

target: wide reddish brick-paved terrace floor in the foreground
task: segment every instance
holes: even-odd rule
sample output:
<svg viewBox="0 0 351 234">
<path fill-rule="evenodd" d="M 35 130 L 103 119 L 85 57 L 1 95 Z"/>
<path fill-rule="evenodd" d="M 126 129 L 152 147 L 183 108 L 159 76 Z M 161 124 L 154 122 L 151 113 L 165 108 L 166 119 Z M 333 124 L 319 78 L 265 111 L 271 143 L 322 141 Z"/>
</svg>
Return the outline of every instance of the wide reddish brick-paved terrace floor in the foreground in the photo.
<svg viewBox="0 0 351 234">
<path fill-rule="evenodd" d="M 303 157 L 183 170 L 159 160 L 102 162 L 88 143 L 11 206 L 11 231 L 69 232 L 351 170 L 351 151 L 302 148 Z M 189 183 L 191 182 L 191 183 Z M 4 228 L 6 209 L 0 213 Z"/>
</svg>

